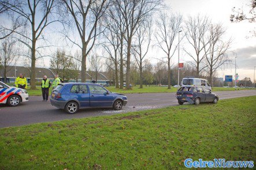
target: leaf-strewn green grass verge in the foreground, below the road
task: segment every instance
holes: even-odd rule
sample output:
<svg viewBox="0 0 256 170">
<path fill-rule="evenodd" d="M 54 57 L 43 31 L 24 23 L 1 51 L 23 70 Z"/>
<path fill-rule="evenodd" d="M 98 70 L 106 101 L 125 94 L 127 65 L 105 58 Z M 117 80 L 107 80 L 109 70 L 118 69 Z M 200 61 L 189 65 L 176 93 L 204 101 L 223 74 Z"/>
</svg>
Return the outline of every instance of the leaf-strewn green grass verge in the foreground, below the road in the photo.
<svg viewBox="0 0 256 170">
<path fill-rule="evenodd" d="M 251 96 L 3 128 L 0 169 L 185 169 L 185 158 L 255 163 L 255 102 Z"/>
</svg>

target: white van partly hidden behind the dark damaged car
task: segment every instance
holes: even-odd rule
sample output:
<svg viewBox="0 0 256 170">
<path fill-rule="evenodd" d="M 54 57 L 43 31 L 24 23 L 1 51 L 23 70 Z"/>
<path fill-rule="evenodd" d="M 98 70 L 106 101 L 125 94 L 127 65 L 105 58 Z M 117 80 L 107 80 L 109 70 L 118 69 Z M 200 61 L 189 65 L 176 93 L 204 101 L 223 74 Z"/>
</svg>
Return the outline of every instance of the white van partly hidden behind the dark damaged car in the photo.
<svg viewBox="0 0 256 170">
<path fill-rule="evenodd" d="M 202 78 L 183 78 L 182 86 L 205 86 L 207 89 L 212 90 L 209 82 Z"/>
</svg>

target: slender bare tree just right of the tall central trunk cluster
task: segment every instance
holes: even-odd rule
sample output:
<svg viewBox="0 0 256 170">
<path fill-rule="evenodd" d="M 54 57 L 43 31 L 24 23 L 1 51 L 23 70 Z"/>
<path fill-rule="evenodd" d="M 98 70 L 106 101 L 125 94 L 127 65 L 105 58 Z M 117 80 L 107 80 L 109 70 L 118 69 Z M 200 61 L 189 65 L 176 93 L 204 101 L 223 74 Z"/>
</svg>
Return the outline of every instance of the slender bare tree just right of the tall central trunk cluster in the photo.
<svg viewBox="0 0 256 170">
<path fill-rule="evenodd" d="M 136 44 L 133 46 L 133 53 L 135 56 L 135 61 L 139 66 L 139 75 L 140 75 L 140 88 L 143 88 L 143 75 L 142 70 L 146 66 L 144 61 L 149 51 L 150 42 L 151 42 L 151 20 L 146 21 L 141 27 L 136 31 Z"/>
</svg>

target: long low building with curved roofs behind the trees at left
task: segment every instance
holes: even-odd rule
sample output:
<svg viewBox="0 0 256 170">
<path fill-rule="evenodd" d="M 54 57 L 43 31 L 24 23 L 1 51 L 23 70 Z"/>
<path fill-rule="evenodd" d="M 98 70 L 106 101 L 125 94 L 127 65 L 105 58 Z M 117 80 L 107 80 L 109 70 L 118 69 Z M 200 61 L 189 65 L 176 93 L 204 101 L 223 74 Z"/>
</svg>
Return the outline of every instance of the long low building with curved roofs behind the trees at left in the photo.
<svg viewBox="0 0 256 170">
<path fill-rule="evenodd" d="M 30 82 L 30 75 L 31 75 L 31 67 L 24 67 L 24 66 L 8 66 L 7 68 L 7 82 L 8 83 L 14 83 L 16 77 L 20 73 L 23 73 L 24 77 L 27 78 L 28 83 Z M 47 68 L 35 68 L 36 72 L 36 81 L 41 81 L 43 78 L 43 75 L 46 75 L 47 78 L 50 80 L 54 80 L 55 70 L 54 69 L 47 69 Z M 90 73 L 90 74 L 89 74 Z M 95 82 L 95 72 L 94 71 L 87 71 L 86 73 L 86 82 Z M 0 81 L 3 81 L 3 68 L 0 69 Z M 69 80 L 71 82 L 75 82 L 76 80 Z M 79 73 L 78 76 L 78 82 L 81 81 L 81 73 Z M 98 84 L 106 84 L 109 83 L 109 79 L 104 75 L 102 72 L 98 72 L 97 74 L 97 83 Z"/>
</svg>

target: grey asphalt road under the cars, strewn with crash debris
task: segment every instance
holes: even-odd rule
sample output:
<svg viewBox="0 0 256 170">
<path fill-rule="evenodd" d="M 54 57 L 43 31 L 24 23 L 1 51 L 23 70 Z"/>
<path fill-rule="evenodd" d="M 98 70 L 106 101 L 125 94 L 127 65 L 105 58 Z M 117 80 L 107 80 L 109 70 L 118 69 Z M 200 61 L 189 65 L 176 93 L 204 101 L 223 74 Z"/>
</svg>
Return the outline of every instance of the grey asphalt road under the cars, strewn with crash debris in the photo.
<svg viewBox="0 0 256 170">
<path fill-rule="evenodd" d="M 256 90 L 238 90 L 214 92 L 222 99 L 254 96 Z M 91 116 L 114 115 L 143 109 L 178 105 L 175 93 L 136 93 L 127 94 L 128 104 L 121 111 L 113 109 L 80 109 L 77 114 L 69 115 L 62 109 L 53 107 L 50 101 L 42 101 L 41 96 L 29 96 L 29 101 L 18 107 L 0 105 L 0 127 L 20 126 L 24 124 L 53 122 L 57 120 L 85 118 Z"/>
</svg>

